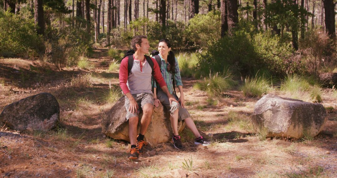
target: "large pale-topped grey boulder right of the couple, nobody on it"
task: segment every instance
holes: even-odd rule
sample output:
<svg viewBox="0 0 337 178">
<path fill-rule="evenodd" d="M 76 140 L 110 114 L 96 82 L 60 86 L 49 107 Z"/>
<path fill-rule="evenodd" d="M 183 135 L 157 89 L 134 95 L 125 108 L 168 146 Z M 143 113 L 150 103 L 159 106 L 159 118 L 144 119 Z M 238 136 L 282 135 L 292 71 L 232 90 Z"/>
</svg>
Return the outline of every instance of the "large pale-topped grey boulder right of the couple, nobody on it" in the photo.
<svg viewBox="0 0 337 178">
<path fill-rule="evenodd" d="M 258 100 L 251 117 L 256 129 L 266 128 L 267 137 L 316 136 L 326 123 L 323 105 L 267 94 Z"/>
</svg>

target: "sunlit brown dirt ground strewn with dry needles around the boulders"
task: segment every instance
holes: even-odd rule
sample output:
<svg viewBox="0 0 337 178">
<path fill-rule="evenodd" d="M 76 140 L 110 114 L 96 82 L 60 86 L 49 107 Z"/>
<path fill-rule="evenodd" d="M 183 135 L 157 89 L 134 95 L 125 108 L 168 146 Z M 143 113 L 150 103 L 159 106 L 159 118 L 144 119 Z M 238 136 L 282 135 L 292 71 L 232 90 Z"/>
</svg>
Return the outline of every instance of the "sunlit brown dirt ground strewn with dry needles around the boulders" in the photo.
<svg viewBox="0 0 337 178">
<path fill-rule="evenodd" d="M 324 130 L 313 140 L 261 141 L 244 122 L 258 98 L 235 89 L 212 103 L 192 88 L 193 78 L 183 78 L 186 107 L 212 144 L 194 145 L 185 128 L 183 150 L 172 143 L 150 145 L 138 160 L 127 160 L 130 145 L 101 133 L 100 121 L 114 104 L 104 102 L 104 91 L 119 84 L 118 70 L 107 71 L 112 60 L 106 56 L 106 49 L 95 50 L 94 68 L 63 71 L 45 62 L 0 59 L 0 111 L 40 92 L 52 93 L 61 110 L 59 128 L 49 132 L 0 126 L 0 177 L 337 177 L 337 111 L 327 114 Z M 86 73 L 91 86 L 71 84 Z M 322 104 L 337 105 L 328 89 Z M 229 122 L 233 113 L 243 121 Z"/>
</svg>

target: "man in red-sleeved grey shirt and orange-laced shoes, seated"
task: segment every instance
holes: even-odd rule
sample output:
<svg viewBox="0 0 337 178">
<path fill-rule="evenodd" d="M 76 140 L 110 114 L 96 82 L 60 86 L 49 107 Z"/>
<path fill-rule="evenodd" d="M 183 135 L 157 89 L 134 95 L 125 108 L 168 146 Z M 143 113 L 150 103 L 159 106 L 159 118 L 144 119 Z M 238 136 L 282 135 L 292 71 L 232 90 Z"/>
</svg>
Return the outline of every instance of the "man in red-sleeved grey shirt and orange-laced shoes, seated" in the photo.
<svg viewBox="0 0 337 178">
<path fill-rule="evenodd" d="M 129 121 L 129 139 L 131 144 L 128 159 L 137 159 L 140 153 L 143 153 L 144 135 L 150 124 L 154 98 L 151 91 L 152 67 L 146 60 L 144 54 L 149 53 L 150 45 L 147 37 L 144 35 L 134 36 L 131 40 L 131 46 L 135 53 L 133 54 L 133 65 L 131 71 L 128 71 L 128 57 L 122 59 L 119 68 L 119 85 L 125 94 L 126 119 Z M 170 102 L 178 102 L 168 91 L 166 83 L 161 75 L 158 63 L 152 60 L 154 78 L 159 87 L 167 94 Z M 151 62 L 151 61 L 150 61 Z M 142 107 L 143 116 L 141 119 L 141 129 L 137 137 L 137 125 L 139 120 L 139 107 Z"/>
</svg>

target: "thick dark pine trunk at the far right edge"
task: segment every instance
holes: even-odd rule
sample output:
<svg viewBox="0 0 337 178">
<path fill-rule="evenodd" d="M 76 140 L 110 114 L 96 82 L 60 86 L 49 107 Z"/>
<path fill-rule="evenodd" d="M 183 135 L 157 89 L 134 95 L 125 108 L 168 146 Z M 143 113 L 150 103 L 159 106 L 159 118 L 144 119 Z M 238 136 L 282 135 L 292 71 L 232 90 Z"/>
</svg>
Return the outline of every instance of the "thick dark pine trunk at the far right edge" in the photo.
<svg viewBox="0 0 337 178">
<path fill-rule="evenodd" d="M 333 0 L 324 0 L 325 26 L 330 38 L 336 37 L 335 30 L 335 4 Z"/>
</svg>

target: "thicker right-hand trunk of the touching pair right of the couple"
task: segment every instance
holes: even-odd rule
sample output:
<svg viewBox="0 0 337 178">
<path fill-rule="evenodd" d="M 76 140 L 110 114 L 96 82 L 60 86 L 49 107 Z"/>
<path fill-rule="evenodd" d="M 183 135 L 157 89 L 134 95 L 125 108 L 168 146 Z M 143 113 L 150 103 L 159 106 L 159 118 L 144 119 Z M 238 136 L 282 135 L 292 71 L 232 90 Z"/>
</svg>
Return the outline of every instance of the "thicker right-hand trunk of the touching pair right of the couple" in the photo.
<svg viewBox="0 0 337 178">
<path fill-rule="evenodd" d="M 229 33 L 236 27 L 238 22 L 238 0 L 227 0 L 227 23 Z"/>
</svg>

